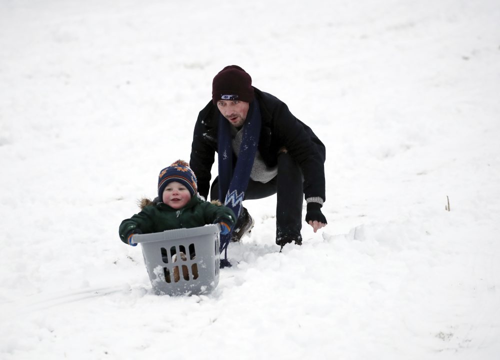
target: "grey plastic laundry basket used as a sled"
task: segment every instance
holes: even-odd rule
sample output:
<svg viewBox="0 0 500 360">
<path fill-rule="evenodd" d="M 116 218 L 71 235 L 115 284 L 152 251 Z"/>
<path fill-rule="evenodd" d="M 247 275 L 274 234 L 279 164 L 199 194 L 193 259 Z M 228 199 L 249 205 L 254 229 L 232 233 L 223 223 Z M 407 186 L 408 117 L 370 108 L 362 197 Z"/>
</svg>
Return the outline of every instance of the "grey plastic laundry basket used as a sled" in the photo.
<svg viewBox="0 0 500 360">
<path fill-rule="evenodd" d="M 135 234 L 157 294 L 201 294 L 219 278 L 220 225 Z"/>
</svg>

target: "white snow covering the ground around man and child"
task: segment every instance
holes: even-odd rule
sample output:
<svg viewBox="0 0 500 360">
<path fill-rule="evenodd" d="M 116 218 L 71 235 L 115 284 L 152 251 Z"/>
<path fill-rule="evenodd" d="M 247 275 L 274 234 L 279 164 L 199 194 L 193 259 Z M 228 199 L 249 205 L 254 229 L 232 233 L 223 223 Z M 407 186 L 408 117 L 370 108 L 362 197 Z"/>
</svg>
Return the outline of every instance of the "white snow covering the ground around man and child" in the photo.
<svg viewBox="0 0 500 360">
<path fill-rule="evenodd" d="M 499 22 L 495 0 L 1 1 L 0 358 L 499 358 Z M 275 197 L 245 201 L 217 288 L 157 296 L 118 225 L 228 64 L 326 144 L 328 225 L 279 253 Z"/>
</svg>

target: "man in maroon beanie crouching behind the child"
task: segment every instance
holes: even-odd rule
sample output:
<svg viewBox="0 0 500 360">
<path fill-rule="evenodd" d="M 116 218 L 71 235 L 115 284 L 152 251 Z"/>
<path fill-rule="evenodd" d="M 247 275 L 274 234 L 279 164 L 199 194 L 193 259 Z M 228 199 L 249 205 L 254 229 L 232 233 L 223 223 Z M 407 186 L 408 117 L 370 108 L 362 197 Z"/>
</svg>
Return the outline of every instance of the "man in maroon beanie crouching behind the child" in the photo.
<svg viewBox="0 0 500 360">
<path fill-rule="evenodd" d="M 210 169 L 218 153 L 218 176 L 211 187 Z M 232 238 L 238 241 L 254 224 L 243 199 L 276 193 L 276 244 L 302 243 L 303 195 L 305 221 L 314 232 L 326 225 L 325 148 L 312 130 L 284 102 L 251 85 L 241 67 L 230 65 L 215 75 L 212 100 L 199 112 L 194 126 L 189 165 L 198 191 L 233 209 L 238 221 Z"/>
</svg>

